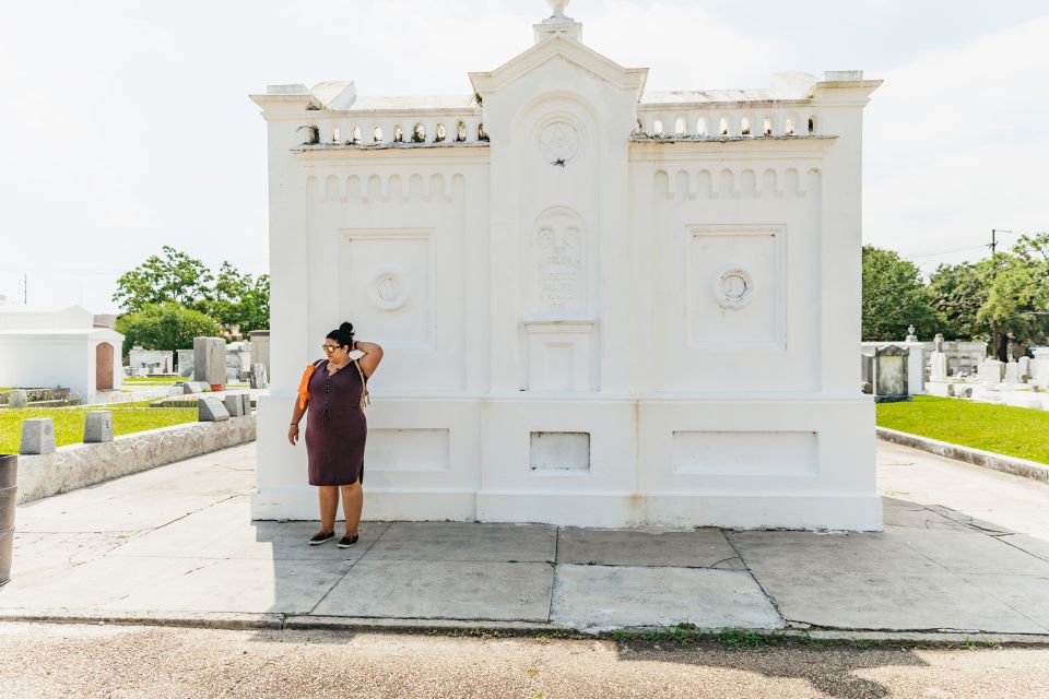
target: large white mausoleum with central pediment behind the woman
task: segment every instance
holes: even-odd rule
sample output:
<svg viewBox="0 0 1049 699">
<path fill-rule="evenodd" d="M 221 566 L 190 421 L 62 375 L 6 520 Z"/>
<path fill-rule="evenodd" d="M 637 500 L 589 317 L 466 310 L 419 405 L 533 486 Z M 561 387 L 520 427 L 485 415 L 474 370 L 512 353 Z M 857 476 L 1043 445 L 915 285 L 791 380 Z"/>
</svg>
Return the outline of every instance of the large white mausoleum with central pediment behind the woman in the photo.
<svg viewBox="0 0 1049 699">
<path fill-rule="evenodd" d="M 561 13 L 476 97 L 271 86 L 272 384 L 257 519 L 315 519 L 286 441 L 352 321 L 365 518 L 877 530 L 859 393 L 858 71 L 651 93 Z M 683 49 L 685 47 L 682 47 Z"/>
</svg>

